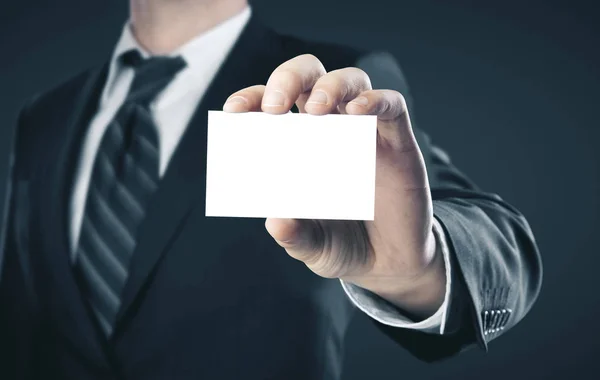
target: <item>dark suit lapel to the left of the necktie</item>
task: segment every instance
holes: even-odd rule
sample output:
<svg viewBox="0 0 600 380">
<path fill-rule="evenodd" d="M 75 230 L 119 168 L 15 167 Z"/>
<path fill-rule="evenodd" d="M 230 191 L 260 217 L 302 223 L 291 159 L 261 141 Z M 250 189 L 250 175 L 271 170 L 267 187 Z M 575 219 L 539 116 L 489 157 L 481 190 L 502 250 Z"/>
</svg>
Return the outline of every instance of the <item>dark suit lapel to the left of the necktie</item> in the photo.
<svg viewBox="0 0 600 380">
<path fill-rule="evenodd" d="M 43 271 L 50 281 L 48 304 L 55 323 L 71 343 L 82 352 L 104 361 L 102 341 L 98 329 L 86 309 L 85 300 L 79 292 L 77 279 L 71 263 L 69 244 L 69 200 L 76 163 L 82 140 L 92 115 L 96 112 L 98 97 L 104 84 L 107 66 L 87 75 L 84 85 L 67 93 L 58 101 L 72 102 L 58 107 L 73 112 L 65 120 L 57 117 L 46 121 L 60 138 L 50 146 L 55 147 L 42 167 L 37 199 L 40 202 L 40 236 L 44 260 Z M 62 116 L 62 115 L 60 115 Z"/>
</svg>

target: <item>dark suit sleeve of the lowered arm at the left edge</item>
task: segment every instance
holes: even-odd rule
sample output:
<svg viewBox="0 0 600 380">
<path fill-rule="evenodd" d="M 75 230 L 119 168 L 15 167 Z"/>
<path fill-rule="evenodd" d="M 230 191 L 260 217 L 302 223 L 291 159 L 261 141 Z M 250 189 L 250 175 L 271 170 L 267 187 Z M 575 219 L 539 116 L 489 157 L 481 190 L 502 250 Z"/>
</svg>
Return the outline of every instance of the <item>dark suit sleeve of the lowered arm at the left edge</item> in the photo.
<svg viewBox="0 0 600 380">
<path fill-rule="evenodd" d="M 19 189 L 22 160 L 18 158 L 23 139 L 24 112 L 17 124 L 16 137 L 10 156 L 9 176 L 6 179 L 2 219 L 0 219 L 0 378 L 31 378 L 31 354 L 36 325 L 33 284 L 25 272 L 21 256 L 25 241 L 16 239 L 16 231 L 23 227 L 21 210 L 16 202 Z"/>
</svg>

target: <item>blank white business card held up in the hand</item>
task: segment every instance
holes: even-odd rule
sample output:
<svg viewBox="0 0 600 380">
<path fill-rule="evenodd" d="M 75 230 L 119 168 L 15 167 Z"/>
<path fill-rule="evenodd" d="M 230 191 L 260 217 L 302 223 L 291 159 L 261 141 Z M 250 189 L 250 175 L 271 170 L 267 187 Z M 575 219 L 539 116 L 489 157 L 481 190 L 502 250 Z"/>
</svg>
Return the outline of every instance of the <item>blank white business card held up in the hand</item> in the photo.
<svg viewBox="0 0 600 380">
<path fill-rule="evenodd" d="M 377 119 L 209 111 L 206 216 L 373 220 Z"/>
</svg>

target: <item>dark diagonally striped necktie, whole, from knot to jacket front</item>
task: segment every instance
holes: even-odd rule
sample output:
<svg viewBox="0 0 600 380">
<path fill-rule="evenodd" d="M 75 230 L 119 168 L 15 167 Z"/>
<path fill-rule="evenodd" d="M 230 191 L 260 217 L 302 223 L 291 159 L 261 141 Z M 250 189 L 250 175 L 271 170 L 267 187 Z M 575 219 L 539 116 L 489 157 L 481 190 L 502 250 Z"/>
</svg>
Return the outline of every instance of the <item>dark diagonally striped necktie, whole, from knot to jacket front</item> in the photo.
<svg viewBox="0 0 600 380">
<path fill-rule="evenodd" d="M 186 64 L 181 57 L 121 56 L 135 77 L 102 137 L 90 180 L 76 269 L 107 336 L 112 334 L 138 228 L 159 181 L 160 150 L 149 105 Z"/>
</svg>

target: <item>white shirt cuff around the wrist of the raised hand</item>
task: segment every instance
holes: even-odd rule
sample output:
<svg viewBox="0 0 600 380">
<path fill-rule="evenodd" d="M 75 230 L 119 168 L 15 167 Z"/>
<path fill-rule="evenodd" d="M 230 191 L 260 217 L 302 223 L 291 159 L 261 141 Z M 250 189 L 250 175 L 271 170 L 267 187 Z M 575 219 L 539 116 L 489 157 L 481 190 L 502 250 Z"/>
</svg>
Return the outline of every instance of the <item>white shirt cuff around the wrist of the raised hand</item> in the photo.
<svg viewBox="0 0 600 380">
<path fill-rule="evenodd" d="M 344 288 L 348 298 L 350 298 L 350 301 L 352 301 L 356 307 L 362 310 L 369 317 L 384 325 L 420 330 L 427 333 L 444 334 L 446 327 L 446 314 L 448 312 L 450 300 L 452 277 L 448 242 L 440 222 L 435 217 L 433 218 L 433 233 L 438 247 L 441 249 L 444 256 L 444 264 L 446 267 L 446 294 L 444 296 L 444 302 L 431 317 L 420 322 L 414 322 L 408 317 L 402 315 L 397 308 L 385 301 L 383 298 L 366 289 L 340 279 L 342 287 Z"/>
</svg>

